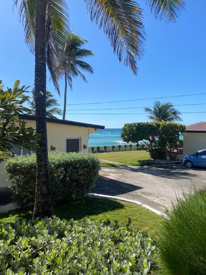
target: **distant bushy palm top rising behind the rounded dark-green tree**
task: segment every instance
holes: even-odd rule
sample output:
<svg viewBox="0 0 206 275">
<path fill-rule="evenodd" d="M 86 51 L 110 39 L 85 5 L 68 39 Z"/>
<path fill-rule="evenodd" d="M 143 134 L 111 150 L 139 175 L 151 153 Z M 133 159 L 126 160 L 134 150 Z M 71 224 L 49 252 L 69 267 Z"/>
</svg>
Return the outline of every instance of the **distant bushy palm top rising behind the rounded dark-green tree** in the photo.
<svg viewBox="0 0 206 275">
<path fill-rule="evenodd" d="M 153 109 L 145 108 L 146 113 L 149 113 L 150 116 L 147 116 L 148 119 L 154 121 L 165 121 L 165 122 L 179 122 L 183 121 L 181 119 L 181 112 L 174 108 L 171 102 L 161 103 L 159 101 L 154 101 Z"/>
</svg>

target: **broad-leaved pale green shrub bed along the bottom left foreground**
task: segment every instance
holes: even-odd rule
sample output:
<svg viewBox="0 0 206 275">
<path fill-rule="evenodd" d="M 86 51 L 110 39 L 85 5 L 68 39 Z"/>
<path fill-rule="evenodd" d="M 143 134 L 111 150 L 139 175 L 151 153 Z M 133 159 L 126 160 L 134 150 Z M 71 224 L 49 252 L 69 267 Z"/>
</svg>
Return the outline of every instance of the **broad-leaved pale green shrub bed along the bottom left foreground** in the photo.
<svg viewBox="0 0 206 275">
<path fill-rule="evenodd" d="M 1 274 L 148 274 L 155 247 L 134 230 L 45 218 L 0 225 Z"/>
</svg>

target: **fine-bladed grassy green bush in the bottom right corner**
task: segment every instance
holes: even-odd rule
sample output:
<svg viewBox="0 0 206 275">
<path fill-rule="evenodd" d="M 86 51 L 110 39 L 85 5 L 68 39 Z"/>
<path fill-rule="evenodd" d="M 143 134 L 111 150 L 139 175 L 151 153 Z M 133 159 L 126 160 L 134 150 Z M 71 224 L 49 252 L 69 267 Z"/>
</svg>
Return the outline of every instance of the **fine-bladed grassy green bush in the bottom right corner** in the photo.
<svg viewBox="0 0 206 275">
<path fill-rule="evenodd" d="M 159 274 L 206 274 L 206 188 L 183 194 L 161 227 Z"/>
</svg>

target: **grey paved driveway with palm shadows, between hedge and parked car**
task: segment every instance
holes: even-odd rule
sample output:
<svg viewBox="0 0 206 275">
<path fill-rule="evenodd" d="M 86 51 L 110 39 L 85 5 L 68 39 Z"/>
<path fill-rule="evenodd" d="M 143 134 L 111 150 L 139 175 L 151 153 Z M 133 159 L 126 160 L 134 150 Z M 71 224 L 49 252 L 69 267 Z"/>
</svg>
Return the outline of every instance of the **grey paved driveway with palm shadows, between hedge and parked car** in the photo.
<svg viewBox="0 0 206 275">
<path fill-rule="evenodd" d="M 206 186 L 206 169 L 186 169 L 182 164 L 144 167 L 102 167 L 92 193 L 137 200 L 159 211 L 171 205 L 175 192 Z"/>
</svg>

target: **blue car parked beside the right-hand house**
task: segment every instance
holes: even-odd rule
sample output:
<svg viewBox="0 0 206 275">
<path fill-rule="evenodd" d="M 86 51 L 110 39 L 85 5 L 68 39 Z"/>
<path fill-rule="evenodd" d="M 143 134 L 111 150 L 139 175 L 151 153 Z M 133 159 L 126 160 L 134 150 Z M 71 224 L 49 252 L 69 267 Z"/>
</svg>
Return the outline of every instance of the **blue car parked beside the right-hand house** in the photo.
<svg viewBox="0 0 206 275">
<path fill-rule="evenodd" d="M 193 166 L 206 167 L 206 149 L 203 149 L 194 154 L 185 156 L 183 158 L 183 164 L 187 168 L 192 168 Z"/>
</svg>

